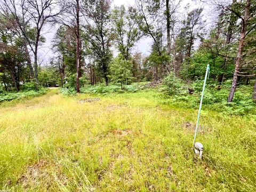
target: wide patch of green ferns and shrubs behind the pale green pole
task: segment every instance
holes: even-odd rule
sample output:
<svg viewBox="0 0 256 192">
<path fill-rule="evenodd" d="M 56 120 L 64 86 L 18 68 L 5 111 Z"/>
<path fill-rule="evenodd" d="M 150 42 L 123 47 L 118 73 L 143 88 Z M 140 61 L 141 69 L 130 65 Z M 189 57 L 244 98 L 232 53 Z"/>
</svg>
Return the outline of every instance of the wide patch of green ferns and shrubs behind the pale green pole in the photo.
<svg viewBox="0 0 256 192">
<path fill-rule="evenodd" d="M 207 81 L 203 98 L 203 108 L 215 110 L 228 115 L 256 114 L 256 102 L 252 100 L 253 86 L 238 85 L 233 102 L 227 102 L 231 82 L 223 83 L 218 89 L 215 82 Z M 203 80 L 191 84 L 179 79 L 166 78 L 159 90 L 170 95 L 169 100 L 163 103 L 180 106 L 183 108 L 198 108 L 201 99 Z"/>
</svg>

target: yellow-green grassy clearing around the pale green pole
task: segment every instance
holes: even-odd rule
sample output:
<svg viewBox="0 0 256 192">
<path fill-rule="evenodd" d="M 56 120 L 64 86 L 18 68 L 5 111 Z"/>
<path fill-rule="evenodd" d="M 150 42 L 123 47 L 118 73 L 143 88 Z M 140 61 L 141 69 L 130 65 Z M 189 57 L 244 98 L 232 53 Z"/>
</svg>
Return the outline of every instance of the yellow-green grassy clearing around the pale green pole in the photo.
<svg viewBox="0 0 256 192">
<path fill-rule="evenodd" d="M 166 100 L 153 90 L 65 97 L 54 89 L 4 103 L 0 190 L 255 191 L 255 116 L 203 111 L 198 161 L 197 110 Z"/>
</svg>

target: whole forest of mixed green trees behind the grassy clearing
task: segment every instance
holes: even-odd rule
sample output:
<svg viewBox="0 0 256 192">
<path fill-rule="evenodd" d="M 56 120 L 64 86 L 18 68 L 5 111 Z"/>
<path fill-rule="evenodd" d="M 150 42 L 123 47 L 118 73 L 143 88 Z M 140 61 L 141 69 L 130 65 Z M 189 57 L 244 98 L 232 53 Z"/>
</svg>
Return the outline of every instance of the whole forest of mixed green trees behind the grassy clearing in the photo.
<svg viewBox="0 0 256 192">
<path fill-rule="evenodd" d="M 210 64 L 211 85 L 215 91 L 229 89 L 222 95 L 227 102 L 243 85 L 254 87 L 255 100 L 256 2 L 204 3 L 217 15 L 208 33 L 203 8 L 181 7 L 182 0 L 137 0 L 134 6 L 114 8 L 108 0 L 1 0 L 0 92 L 59 85 L 78 93 L 86 92 L 87 85 L 124 89 L 154 81 L 163 82 L 169 94 L 187 85 L 193 86 L 186 92 L 193 93 L 201 89 Z M 181 8 L 189 10 L 185 17 Z M 55 57 L 42 66 L 38 50 L 47 35 L 43 29 L 51 26 L 58 28 L 52 42 Z M 152 39 L 149 55 L 132 52 L 143 37 Z"/>
</svg>

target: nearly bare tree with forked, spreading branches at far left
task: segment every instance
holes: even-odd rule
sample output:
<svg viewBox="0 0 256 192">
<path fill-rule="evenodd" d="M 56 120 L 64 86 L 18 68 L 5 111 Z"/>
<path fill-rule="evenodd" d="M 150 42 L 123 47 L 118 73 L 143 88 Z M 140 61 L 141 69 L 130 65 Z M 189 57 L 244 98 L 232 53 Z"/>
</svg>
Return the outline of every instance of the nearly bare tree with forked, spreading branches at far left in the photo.
<svg viewBox="0 0 256 192">
<path fill-rule="evenodd" d="M 58 9 L 54 9 L 57 3 L 54 0 L 21 0 L 20 4 L 15 2 L 15 0 L 2 0 L 3 7 L 2 10 L 7 10 L 11 13 L 11 17 L 14 17 L 17 29 L 19 29 L 20 34 L 23 39 L 26 40 L 24 47 L 29 45 L 31 51 L 34 54 L 34 70 L 35 78 L 38 82 L 38 47 L 40 43 L 44 43 L 44 38 L 42 38 L 43 27 L 53 21 L 53 18 L 60 14 Z M 21 15 L 18 10 L 21 11 Z M 55 12 L 54 12 L 55 11 Z M 31 23 L 31 28 L 28 30 L 29 23 Z M 29 53 L 26 50 L 26 56 L 28 62 Z M 32 68 L 30 67 L 30 73 L 32 73 Z"/>
</svg>

